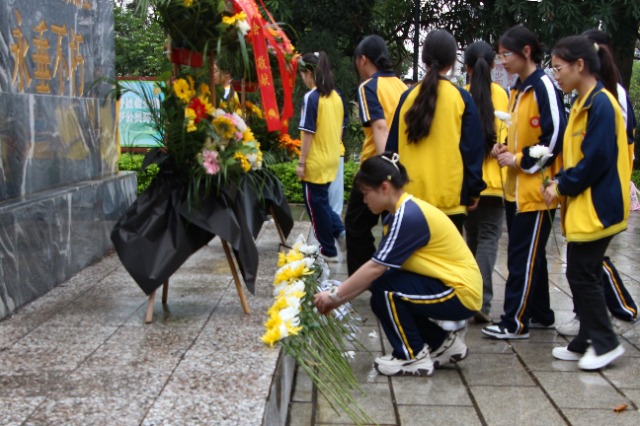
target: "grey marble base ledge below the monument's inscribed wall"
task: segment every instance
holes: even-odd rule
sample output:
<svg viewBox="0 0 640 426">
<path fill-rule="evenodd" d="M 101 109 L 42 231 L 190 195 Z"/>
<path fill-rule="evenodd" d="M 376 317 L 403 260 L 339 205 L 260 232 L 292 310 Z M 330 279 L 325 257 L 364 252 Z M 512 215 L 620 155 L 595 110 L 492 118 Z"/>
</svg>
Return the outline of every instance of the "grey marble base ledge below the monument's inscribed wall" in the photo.
<svg viewBox="0 0 640 426">
<path fill-rule="evenodd" d="M 136 187 L 121 172 L 0 202 L 0 319 L 102 259 Z"/>
</svg>

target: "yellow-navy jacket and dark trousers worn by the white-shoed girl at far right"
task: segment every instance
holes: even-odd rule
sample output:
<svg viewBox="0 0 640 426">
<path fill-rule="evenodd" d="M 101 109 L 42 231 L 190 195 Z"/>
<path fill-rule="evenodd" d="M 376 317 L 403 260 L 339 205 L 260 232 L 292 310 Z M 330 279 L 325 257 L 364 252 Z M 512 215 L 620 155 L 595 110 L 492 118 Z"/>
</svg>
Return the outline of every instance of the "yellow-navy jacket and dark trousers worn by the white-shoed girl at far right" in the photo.
<svg viewBox="0 0 640 426">
<path fill-rule="evenodd" d="M 563 142 L 564 170 L 557 177 L 557 191 L 564 196 L 567 279 L 580 316 L 580 334 L 569 350 L 583 353 L 590 344 L 602 355 L 619 343 L 606 320 L 602 284 L 593 282 L 593 271 L 603 264 L 613 235 L 627 228 L 631 200 L 625 119 L 601 82 L 574 102 Z"/>
</svg>

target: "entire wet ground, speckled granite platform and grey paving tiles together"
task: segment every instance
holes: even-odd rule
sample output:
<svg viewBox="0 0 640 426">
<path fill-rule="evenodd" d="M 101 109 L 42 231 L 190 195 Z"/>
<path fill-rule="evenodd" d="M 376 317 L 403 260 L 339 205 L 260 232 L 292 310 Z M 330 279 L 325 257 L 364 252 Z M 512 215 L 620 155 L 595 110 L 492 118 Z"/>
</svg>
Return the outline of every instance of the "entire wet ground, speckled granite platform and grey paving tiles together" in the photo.
<svg viewBox="0 0 640 426">
<path fill-rule="evenodd" d="M 297 212 L 297 210 L 296 210 Z M 302 213 L 290 240 L 308 234 Z M 547 247 L 551 303 L 558 322 L 572 314 L 562 255 Z M 608 251 L 636 301 L 640 300 L 640 214 Z M 147 298 L 115 254 L 83 270 L 0 321 L 2 425 L 261 425 L 274 389 L 293 385 L 287 424 L 351 424 L 318 395 L 308 377 L 283 373 L 280 351 L 260 341 L 279 239 L 273 223 L 257 239 L 256 294 L 242 311 L 219 240 L 192 256 L 171 278 L 168 305 L 156 297 L 145 324 Z M 343 264 L 332 278 L 344 279 Z M 506 233 L 494 273 L 492 315 L 498 318 L 506 278 Z M 640 324 L 621 336 L 626 353 L 609 368 L 582 372 L 551 357 L 567 340 L 532 330 L 522 341 L 485 338 L 471 322 L 470 355 L 432 377 L 384 377 L 373 359 L 389 345 L 366 293 L 354 301 L 366 318 L 353 369 L 366 395 L 360 405 L 381 425 L 638 425 Z M 284 389 L 284 390 L 283 390 Z M 287 392 L 284 392 L 287 393 Z M 271 397 L 270 397 L 271 395 Z M 286 407 L 286 401 L 277 401 Z M 623 412 L 614 407 L 626 404 Z"/>
</svg>

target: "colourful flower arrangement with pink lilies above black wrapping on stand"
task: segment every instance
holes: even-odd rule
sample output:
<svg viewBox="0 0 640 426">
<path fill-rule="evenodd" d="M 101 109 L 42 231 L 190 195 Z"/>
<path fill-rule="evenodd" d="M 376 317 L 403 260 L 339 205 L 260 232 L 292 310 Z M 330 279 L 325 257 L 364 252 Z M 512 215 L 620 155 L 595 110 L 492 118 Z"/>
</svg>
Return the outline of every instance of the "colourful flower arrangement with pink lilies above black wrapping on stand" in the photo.
<svg viewBox="0 0 640 426">
<path fill-rule="evenodd" d="M 236 111 L 214 108 L 211 88 L 195 75 L 167 77 L 141 93 L 162 148 L 152 155 L 162 168 L 189 181 L 190 191 L 238 182 L 262 168 L 262 151 Z"/>
</svg>

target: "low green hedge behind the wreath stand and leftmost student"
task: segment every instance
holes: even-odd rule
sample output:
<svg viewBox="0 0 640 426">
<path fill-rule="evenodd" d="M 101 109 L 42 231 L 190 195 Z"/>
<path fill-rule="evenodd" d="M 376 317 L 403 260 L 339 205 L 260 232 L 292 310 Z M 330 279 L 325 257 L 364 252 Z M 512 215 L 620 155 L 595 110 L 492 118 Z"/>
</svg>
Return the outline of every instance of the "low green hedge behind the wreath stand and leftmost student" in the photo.
<svg viewBox="0 0 640 426">
<path fill-rule="evenodd" d="M 151 183 L 155 175 L 158 173 L 158 166 L 155 164 L 147 167 L 142 171 L 142 160 L 144 154 L 126 153 L 120 156 L 120 170 L 131 170 L 138 174 L 138 194 L 144 191 Z M 288 163 L 278 163 L 269 166 L 276 176 L 282 182 L 284 187 L 284 195 L 290 203 L 303 203 L 302 185 L 296 176 L 296 161 Z M 358 163 L 347 161 L 344 164 L 344 201 L 349 201 L 351 187 L 353 185 L 353 177 L 358 171 Z"/>
</svg>

